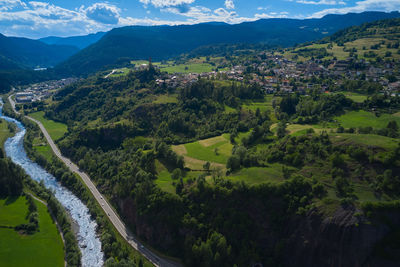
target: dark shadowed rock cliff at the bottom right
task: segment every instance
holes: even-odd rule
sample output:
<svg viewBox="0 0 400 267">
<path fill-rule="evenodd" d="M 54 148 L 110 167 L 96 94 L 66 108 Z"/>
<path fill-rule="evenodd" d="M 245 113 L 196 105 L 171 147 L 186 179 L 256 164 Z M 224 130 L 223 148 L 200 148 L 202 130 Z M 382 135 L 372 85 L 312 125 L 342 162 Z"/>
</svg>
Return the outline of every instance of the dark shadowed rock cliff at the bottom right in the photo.
<svg viewBox="0 0 400 267">
<path fill-rule="evenodd" d="M 367 223 L 354 208 L 339 208 L 323 218 L 315 210 L 288 228 L 285 266 L 395 266 L 373 258 L 375 245 L 391 232 L 383 223 Z M 396 218 L 397 217 L 397 218 Z M 399 223 L 399 216 L 391 219 Z M 382 265 L 384 264 L 384 265 Z M 398 264 L 398 263 L 397 263 Z"/>
</svg>

